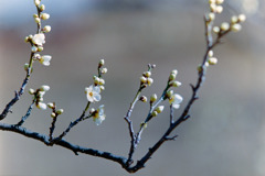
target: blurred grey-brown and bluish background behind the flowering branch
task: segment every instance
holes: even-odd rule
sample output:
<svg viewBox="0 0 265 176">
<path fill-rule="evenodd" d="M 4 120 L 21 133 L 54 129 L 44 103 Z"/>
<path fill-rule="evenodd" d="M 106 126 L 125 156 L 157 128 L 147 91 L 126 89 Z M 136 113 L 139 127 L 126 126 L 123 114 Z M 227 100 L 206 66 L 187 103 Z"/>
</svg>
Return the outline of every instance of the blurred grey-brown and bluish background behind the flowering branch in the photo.
<svg viewBox="0 0 265 176">
<path fill-rule="evenodd" d="M 106 90 L 97 108 L 105 105 L 106 120 L 96 127 L 92 120 L 74 128 L 65 138 L 82 146 L 127 156 L 129 133 L 123 119 L 147 65 L 156 64 L 153 85 L 144 91 L 161 95 L 169 73 L 178 69 L 184 98 L 181 113 L 197 80 L 197 66 L 204 51 L 203 14 L 206 0 L 43 0 L 52 26 L 42 54 L 52 55 L 51 66 L 34 64 L 29 88 L 49 85 L 44 102 L 55 101 L 64 109 L 55 134 L 76 119 L 86 106 L 84 88 L 93 84 L 100 58 L 106 62 Z M 239 33 L 229 34 L 214 50 L 216 66 L 208 69 L 200 100 L 191 118 L 147 163 L 139 176 L 264 176 L 265 175 L 265 1 L 225 1 L 216 24 L 233 14 L 245 13 L 247 21 Z M 24 37 L 34 34 L 32 0 L 0 0 L 0 107 L 13 98 L 24 78 L 30 45 Z M 28 90 L 26 90 L 28 91 Z M 17 123 L 31 102 L 25 92 L 3 122 Z M 169 123 L 168 102 L 163 113 L 148 124 L 135 155 L 139 160 L 162 135 Z M 148 113 L 139 102 L 132 113 L 137 130 Z M 24 125 L 49 133 L 50 111 L 34 109 Z M 1 176 L 125 176 L 118 164 L 89 155 L 74 155 L 65 148 L 49 147 L 39 141 L 0 131 Z"/>
</svg>

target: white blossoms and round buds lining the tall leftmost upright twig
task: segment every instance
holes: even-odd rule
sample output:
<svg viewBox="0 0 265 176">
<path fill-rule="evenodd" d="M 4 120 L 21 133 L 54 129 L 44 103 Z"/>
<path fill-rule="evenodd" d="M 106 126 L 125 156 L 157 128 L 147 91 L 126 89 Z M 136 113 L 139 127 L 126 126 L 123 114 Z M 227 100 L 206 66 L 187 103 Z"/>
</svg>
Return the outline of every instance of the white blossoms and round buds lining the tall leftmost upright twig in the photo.
<svg viewBox="0 0 265 176">
<path fill-rule="evenodd" d="M 41 64 L 44 66 L 50 65 L 50 61 L 52 59 L 52 56 L 50 55 L 43 55 L 40 56 L 40 54 L 35 54 L 36 52 L 42 52 L 44 50 L 43 44 L 45 43 L 45 35 L 44 33 L 47 33 L 51 31 L 50 25 L 45 25 L 43 29 L 41 29 L 41 20 L 47 20 L 50 18 L 50 14 L 44 13 L 45 6 L 41 4 L 41 0 L 34 0 L 35 7 L 38 9 L 38 14 L 33 14 L 34 21 L 38 24 L 38 33 L 34 35 L 25 36 L 25 42 L 29 42 L 31 44 L 31 52 L 33 54 L 33 59 L 38 59 Z M 25 64 L 25 69 L 29 68 L 29 64 Z"/>
</svg>

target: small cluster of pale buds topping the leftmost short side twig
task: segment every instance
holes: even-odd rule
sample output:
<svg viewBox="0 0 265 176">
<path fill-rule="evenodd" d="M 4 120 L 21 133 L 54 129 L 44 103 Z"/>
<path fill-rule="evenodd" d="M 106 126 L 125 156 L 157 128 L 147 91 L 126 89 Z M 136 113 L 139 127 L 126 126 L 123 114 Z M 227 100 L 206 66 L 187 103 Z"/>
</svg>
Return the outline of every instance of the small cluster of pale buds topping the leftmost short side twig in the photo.
<svg viewBox="0 0 265 176">
<path fill-rule="evenodd" d="M 43 96 L 45 95 L 45 92 L 50 90 L 50 87 L 46 85 L 43 85 L 41 88 L 34 90 L 32 88 L 29 89 L 29 94 L 30 95 L 34 95 L 34 101 L 35 101 L 35 106 L 39 109 L 45 110 L 46 109 L 46 105 L 43 102 Z"/>
</svg>

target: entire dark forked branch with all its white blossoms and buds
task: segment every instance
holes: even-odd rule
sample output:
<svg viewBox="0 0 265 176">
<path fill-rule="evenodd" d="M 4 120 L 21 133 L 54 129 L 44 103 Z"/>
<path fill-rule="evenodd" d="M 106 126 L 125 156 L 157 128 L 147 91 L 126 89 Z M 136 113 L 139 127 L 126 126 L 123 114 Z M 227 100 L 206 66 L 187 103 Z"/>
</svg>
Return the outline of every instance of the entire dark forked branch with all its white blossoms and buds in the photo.
<svg viewBox="0 0 265 176">
<path fill-rule="evenodd" d="M 33 70 L 33 62 L 39 61 L 42 65 L 49 66 L 50 61 L 52 56 L 50 55 L 40 55 L 39 52 L 42 52 L 43 45 L 45 43 L 45 35 L 44 33 L 47 33 L 51 31 L 50 25 L 45 25 L 43 29 L 41 26 L 41 20 L 47 20 L 50 18 L 50 14 L 44 13 L 45 6 L 41 4 L 41 0 L 34 0 L 36 11 L 38 13 L 33 15 L 35 23 L 38 24 L 36 34 L 29 35 L 25 37 L 25 42 L 31 44 L 31 54 L 30 54 L 30 62 L 24 65 L 24 69 L 26 72 L 25 78 L 22 82 L 22 86 L 20 87 L 19 91 L 15 91 L 14 98 L 11 99 L 9 103 L 7 103 L 6 108 L 3 109 L 2 113 L 0 114 L 0 121 L 7 118 L 8 113 L 11 112 L 12 106 L 21 98 L 22 94 L 24 92 L 24 89 L 30 80 L 30 76 Z M 93 156 L 103 157 L 116 163 L 119 163 L 123 168 L 125 168 L 128 173 L 136 173 L 137 170 L 145 167 L 146 163 L 151 158 L 151 156 L 155 154 L 155 152 L 167 141 L 176 140 L 177 135 L 171 135 L 173 130 L 179 127 L 183 121 L 188 120 L 190 116 L 190 109 L 195 100 L 199 99 L 199 90 L 202 87 L 203 81 L 205 80 L 206 69 L 210 65 L 215 65 L 218 63 L 216 57 L 213 57 L 213 48 L 221 43 L 221 38 L 223 38 L 226 34 L 230 32 L 237 32 L 241 30 L 241 22 L 245 21 L 245 15 L 240 14 L 239 16 L 234 15 L 231 18 L 231 22 L 224 22 L 220 26 L 214 26 L 214 19 L 215 15 L 221 13 L 223 11 L 223 7 L 221 6 L 223 3 L 223 0 L 210 0 L 209 7 L 210 7 L 210 13 L 208 13 L 204 16 L 204 24 L 205 24 L 205 41 L 206 41 L 206 50 L 205 54 L 203 56 L 203 59 L 201 62 L 201 65 L 198 67 L 198 79 L 195 85 L 190 85 L 192 89 L 192 95 L 183 110 L 180 117 L 174 118 L 173 112 L 174 109 L 179 109 L 180 103 L 182 102 L 183 98 L 179 94 L 174 94 L 171 88 L 178 88 L 181 86 L 181 82 L 177 81 L 177 75 L 178 70 L 173 69 L 168 78 L 166 88 L 163 89 L 160 98 L 158 99 L 157 95 L 153 94 L 150 97 L 149 105 L 150 109 L 148 111 L 147 117 L 144 119 L 144 121 L 140 123 L 140 128 L 138 132 L 135 132 L 134 125 L 132 125 L 132 111 L 135 110 L 135 106 L 138 101 L 141 102 L 148 102 L 146 96 L 141 96 L 142 90 L 147 88 L 148 86 L 151 86 L 153 82 L 153 79 L 151 76 L 151 70 L 156 67 L 156 65 L 148 65 L 148 70 L 142 73 L 142 76 L 140 77 L 140 86 L 136 92 L 136 96 L 134 97 L 132 101 L 130 102 L 129 109 L 124 117 L 125 121 L 128 125 L 129 136 L 130 136 L 130 147 L 128 152 L 128 157 L 114 155 L 108 152 L 102 152 L 98 150 L 78 146 L 75 144 L 72 144 L 71 142 L 64 140 L 66 134 L 76 127 L 80 122 L 93 119 L 96 125 L 99 125 L 106 118 L 104 113 L 104 105 L 98 106 L 97 109 L 91 108 L 92 103 L 96 103 L 100 101 L 102 99 L 102 92 L 105 90 L 105 80 L 103 79 L 104 74 L 107 73 L 107 68 L 104 67 L 105 61 L 100 59 L 97 66 L 97 76 L 93 76 L 94 82 L 85 88 L 85 95 L 87 98 L 87 103 L 85 109 L 83 110 L 82 114 L 71 122 L 68 127 L 59 135 L 53 136 L 55 124 L 57 121 L 59 116 L 63 113 L 63 109 L 57 109 L 55 106 L 55 102 L 49 102 L 47 105 L 43 102 L 43 97 L 47 90 L 50 90 L 50 87 L 46 85 L 41 86 L 36 90 L 29 89 L 29 94 L 33 96 L 33 100 L 30 105 L 30 107 L 26 110 L 26 114 L 21 118 L 21 120 L 17 124 L 7 124 L 7 123 L 0 123 L 0 130 L 2 131 L 10 131 L 15 132 L 19 134 L 22 134 L 26 138 L 31 138 L 34 140 L 38 140 L 40 142 L 43 142 L 47 146 L 59 145 L 62 147 L 65 147 L 67 150 L 73 151 L 76 155 L 78 153 L 88 154 Z M 213 33 L 216 35 L 213 37 Z M 161 102 L 165 100 L 169 101 L 170 106 L 170 117 L 169 117 L 169 127 L 166 129 L 163 135 L 147 151 L 147 153 L 135 164 L 134 164 L 134 154 L 137 150 L 137 146 L 139 145 L 141 141 L 141 134 L 144 130 L 147 128 L 147 124 L 150 120 L 156 119 L 155 117 L 162 113 L 165 106 L 160 106 Z M 39 132 L 32 132 L 26 128 L 23 128 L 23 123 L 25 120 L 30 117 L 33 107 L 36 107 L 39 109 L 45 110 L 46 108 L 50 108 L 52 110 L 51 118 L 51 127 L 50 127 L 50 133 L 49 135 L 41 134 Z"/>
</svg>

